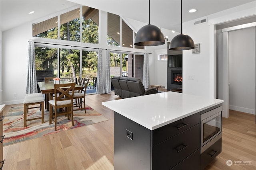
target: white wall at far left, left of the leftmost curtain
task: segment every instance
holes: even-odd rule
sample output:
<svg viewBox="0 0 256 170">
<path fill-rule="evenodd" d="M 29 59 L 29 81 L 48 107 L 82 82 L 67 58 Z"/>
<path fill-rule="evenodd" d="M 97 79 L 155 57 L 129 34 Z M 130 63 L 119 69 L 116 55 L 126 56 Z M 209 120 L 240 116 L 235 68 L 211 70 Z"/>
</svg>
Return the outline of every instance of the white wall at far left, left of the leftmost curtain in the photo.
<svg viewBox="0 0 256 170">
<path fill-rule="evenodd" d="M 2 101 L 7 105 L 22 103 L 26 93 L 30 30 L 32 25 L 25 24 L 2 33 Z"/>
</svg>

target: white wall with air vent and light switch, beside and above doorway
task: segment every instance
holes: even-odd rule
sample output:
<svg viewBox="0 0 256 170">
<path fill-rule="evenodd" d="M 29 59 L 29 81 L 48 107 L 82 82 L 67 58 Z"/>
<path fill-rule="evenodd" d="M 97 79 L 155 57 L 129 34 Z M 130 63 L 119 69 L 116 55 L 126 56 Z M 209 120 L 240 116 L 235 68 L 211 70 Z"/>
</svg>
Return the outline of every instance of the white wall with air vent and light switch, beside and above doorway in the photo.
<svg viewBox="0 0 256 170">
<path fill-rule="evenodd" d="M 192 54 L 191 50 L 183 51 L 183 93 L 196 94 L 214 98 L 216 96 L 216 30 L 214 24 L 224 23 L 247 16 L 256 15 L 256 2 L 251 2 L 207 18 L 207 23 L 194 25 L 194 21 L 183 23 L 183 33 L 188 34 L 194 43 L 200 43 L 200 54 Z M 188 76 L 194 75 L 194 80 Z"/>
</svg>

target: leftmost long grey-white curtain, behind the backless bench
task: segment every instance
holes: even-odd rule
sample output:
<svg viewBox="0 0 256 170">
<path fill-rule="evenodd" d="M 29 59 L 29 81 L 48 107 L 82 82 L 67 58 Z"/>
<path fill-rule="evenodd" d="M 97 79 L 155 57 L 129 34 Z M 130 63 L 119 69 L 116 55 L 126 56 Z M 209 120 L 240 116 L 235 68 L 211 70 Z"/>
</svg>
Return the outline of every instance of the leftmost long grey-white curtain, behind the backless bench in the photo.
<svg viewBox="0 0 256 170">
<path fill-rule="evenodd" d="M 36 62 L 34 53 L 34 41 L 28 41 L 28 70 L 26 94 L 37 93 Z"/>
</svg>

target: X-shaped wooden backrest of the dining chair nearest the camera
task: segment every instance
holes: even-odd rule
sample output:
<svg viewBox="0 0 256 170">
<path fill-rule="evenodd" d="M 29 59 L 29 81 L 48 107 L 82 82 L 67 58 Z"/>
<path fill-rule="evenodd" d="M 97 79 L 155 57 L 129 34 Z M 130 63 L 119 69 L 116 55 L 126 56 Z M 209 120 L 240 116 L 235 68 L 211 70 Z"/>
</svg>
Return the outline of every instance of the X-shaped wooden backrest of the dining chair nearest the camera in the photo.
<svg viewBox="0 0 256 170">
<path fill-rule="evenodd" d="M 76 83 L 65 83 L 65 84 L 54 84 L 54 94 L 55 94 L 55 106 L 57 106 L 58 101 L 62 101 L 63 105 L 72 104 L 73 102 L 67 102 L 65 104 L 65 100 L 73 101 L 74 89 Z M 72 93 L 68 93 L 68 92 Z M 58 94 L 58 95 L 57 95 Z"/>
</svg>

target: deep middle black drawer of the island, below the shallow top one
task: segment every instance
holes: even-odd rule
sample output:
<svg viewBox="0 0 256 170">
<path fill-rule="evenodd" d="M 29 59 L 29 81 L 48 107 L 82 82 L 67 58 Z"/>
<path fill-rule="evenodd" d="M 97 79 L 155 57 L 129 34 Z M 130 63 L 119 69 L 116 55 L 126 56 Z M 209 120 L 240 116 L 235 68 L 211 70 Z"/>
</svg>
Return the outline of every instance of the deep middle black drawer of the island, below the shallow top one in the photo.
<svg viewBox="0 0 256 170">
<path fill-rule="evenodd" d="M 200 149 L 200 125 L 152 147 L 152 169 L 169 170 Z"/>
</svg>

